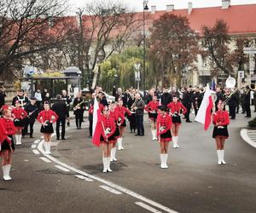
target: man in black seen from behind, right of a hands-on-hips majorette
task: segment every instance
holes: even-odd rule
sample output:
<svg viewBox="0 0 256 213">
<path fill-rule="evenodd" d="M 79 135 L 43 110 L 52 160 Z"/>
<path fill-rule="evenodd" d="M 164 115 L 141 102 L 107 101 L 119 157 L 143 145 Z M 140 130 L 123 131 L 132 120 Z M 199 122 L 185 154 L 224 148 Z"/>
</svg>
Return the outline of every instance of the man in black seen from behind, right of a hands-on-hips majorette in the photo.
<svg viewBox="0 0 256 213">
<path fill-rule="evenodd" d="M 60 140 L 60 124 L 61 124 L 61 140 L 65 138 L 66 118 L 67 118 L 67 104 L 61 101 L 61 95 L 57 95 L 57 101 L 53 104 L 52 110 L 59 117 L 56 121 L 56 136 Z"/>
</svg>

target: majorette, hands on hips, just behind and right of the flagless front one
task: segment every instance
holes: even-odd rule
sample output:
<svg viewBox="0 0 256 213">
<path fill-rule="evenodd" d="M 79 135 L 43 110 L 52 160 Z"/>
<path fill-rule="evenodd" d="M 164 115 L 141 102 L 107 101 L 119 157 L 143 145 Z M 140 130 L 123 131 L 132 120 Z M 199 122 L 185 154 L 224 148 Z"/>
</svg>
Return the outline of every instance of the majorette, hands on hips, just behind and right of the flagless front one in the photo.
<svg viewBox="0 0 256 213">
<path fill-rule="evenodd" d="M 181 125 L 181 111 L 183 115 L 186 114 L 187 109 L 183 106 L 183 104 L 180 101 L 177 101 L 177 96 L 173 95 L 172 102 L 167 105 L 168 108 L 171 109 L 171 116 L 172 116 L 172 147 L 178 148 L 177 145 L 177 139 L 178 139 L 178 130 Z"/>
</svg>

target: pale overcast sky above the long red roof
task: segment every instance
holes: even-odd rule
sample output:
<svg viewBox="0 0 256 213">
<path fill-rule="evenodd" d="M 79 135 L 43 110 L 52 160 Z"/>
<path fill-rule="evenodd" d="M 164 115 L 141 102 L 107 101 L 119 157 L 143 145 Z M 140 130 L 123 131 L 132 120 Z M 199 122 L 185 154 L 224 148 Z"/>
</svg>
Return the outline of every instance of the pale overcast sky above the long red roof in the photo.
<svg viewBox="0 0 256 213">
<path fill-rule="evenodd" d="M 90 3 L 92 0 L 68 0 L 71 6 L 71 11 L 76 8 L 83 7 L 84 3 Z M 95 0 L 97 1 L 97 0 Z M 111 0 L 105 0 L 111 1 Z M 115 0 L 116 2 L 117 0 Z M 119 2 L 126 3 L 131 9 L 135 11 L 143 10 L 143 0 L 121 0 Z M 166 9 L 167 4 L 174 4 L 175 9 L 186 9 L 188 2 L 193 3 L 193 8 L 205 8 L 221 6 L 222 0 L 148 0 L 148 7 L 155 5 L 157 10 Z M 256 3 L 256 0 L 231 0 L 231 5 Z"/>
</svg>

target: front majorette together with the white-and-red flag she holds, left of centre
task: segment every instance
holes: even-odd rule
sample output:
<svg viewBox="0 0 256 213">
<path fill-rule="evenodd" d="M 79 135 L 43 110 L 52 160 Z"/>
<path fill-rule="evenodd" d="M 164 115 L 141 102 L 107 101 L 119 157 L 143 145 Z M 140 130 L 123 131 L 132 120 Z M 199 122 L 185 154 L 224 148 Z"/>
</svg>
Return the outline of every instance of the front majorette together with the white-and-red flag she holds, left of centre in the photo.
<svg viewBox="0 0 256 213">
<path fill-rule="evenodd" d="M 94 101 L 93 108 L 93 137 L 92 142 L 97 146 L 102 146 L 102 162 L 103 162 L 103 172 L 112 172 L 110 169 L 110 153 L 113 147 L 115 123 L 113 118 L 109 115 L 108 107 L 104 107 L 101 110 L 99 108 L 99 103 Z"/>
</svg>

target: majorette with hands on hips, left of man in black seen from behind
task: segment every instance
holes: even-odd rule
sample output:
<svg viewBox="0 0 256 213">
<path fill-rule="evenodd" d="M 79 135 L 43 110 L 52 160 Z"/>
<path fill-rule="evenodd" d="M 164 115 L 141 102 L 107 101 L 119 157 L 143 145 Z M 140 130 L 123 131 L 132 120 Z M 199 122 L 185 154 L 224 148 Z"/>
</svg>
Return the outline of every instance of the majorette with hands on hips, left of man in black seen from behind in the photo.
<svg viewBox="0 0 256 213">
<path fill-rule="evenodd" d="M 50 154 L 51 134 L 54 132 L 52 124 L 57 118 L 56 113 L 49 109 L 49 102 L 45 101 L 44 110 L 38 114 L 38 122 L 42 124 L 40 132 L 44 135 L 45 154 Z"/>
</svg>

